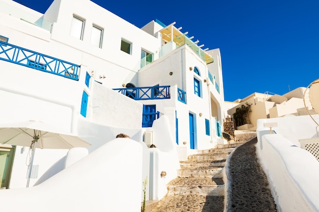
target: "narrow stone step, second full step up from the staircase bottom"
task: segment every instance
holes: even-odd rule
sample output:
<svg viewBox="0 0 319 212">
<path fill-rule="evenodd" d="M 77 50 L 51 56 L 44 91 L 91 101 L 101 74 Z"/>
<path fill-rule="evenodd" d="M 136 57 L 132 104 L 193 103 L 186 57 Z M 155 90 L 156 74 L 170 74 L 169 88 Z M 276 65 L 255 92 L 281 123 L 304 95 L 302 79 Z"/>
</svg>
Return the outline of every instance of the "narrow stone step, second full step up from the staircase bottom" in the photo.
<svg viewBox="0 0 319 212">
<path fill-rule="evenodd" d="M 223 177 L 223 167 L 195 167 L 188 170 L 177 170 L 179 177 Z"/>
</svg>

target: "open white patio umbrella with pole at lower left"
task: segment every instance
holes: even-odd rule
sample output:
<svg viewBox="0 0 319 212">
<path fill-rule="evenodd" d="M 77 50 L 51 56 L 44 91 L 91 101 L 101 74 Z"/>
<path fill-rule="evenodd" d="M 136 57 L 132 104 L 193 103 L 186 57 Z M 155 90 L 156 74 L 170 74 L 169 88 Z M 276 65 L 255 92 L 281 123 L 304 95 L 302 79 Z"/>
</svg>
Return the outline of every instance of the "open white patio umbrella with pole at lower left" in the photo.
<svg viewBox="0 0 319 212">
<path fill-rule="evenodd" d="M 30 146 L 31 162 L 26 187 L 29 187 L 36 148 L 68 149 L 91 145 L 85 140 L 49 124 L 29 120 L 21 123 L 0 124 L 0 143 Z"/>
</svg>

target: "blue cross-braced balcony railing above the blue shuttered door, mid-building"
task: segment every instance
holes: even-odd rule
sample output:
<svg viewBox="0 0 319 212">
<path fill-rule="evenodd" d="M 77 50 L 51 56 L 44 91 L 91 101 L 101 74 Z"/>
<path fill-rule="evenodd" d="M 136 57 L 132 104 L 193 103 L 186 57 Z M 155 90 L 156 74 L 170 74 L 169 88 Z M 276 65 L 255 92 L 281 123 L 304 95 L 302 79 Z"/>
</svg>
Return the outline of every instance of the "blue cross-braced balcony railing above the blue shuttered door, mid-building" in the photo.
<svg viewBox="0 0 319 212">
<path fill-rule="evenodd" d="M 153 100 L 153 99 L 170 99 L 170 86 L 153 86 L 153 87 L 125 87 L 114 88 L 119 93 L 134 100 Z"/>
</svg>

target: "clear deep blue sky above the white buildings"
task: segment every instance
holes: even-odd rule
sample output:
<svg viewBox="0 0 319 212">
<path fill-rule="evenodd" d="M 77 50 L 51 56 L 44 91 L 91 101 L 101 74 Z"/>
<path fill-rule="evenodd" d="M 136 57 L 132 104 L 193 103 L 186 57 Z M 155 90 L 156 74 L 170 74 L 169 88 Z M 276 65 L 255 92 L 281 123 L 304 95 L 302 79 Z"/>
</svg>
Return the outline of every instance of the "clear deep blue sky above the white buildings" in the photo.
<svg viewBox="0 0 319 212">
<path fill-rule="evenodd" d="M 44 13 L 52 0 L 15 0 Z M 219 48 L 225 101 L 283 95 L 319 78 L 318 0 L 108 1 L 96 4 L 138 27 L 176 22 L 198 45 Z"/>
</svg>

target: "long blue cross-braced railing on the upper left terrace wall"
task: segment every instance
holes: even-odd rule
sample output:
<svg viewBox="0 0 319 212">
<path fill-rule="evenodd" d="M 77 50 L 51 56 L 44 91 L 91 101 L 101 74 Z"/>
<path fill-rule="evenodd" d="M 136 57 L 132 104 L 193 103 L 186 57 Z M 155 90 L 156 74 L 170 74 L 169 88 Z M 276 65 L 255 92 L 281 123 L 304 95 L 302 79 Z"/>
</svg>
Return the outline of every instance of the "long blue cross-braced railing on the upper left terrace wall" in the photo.
<svg viewBox="0 0 319 212">
<path fill-rule="evenodd" d="M 78 80 L 79 65 L 0 41 L 0 59 Z"/>
</svg>

